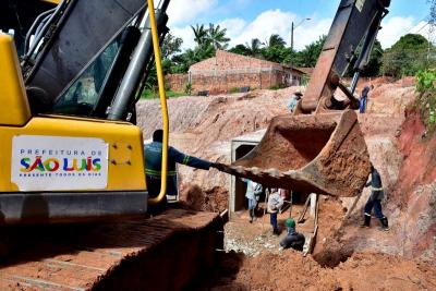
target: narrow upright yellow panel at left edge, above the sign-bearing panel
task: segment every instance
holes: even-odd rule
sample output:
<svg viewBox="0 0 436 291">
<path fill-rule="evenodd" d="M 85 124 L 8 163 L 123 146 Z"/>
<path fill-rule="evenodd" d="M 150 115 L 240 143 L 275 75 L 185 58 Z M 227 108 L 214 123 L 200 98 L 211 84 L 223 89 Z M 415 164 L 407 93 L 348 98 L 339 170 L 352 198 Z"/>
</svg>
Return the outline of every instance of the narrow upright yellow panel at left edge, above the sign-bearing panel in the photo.
<svg viewBox="0 0 436 291">
<path fill-rule="evenodd" d="M 0 33 L 0 124 L 21 126 L 31 119 L 19 58 L 11 36 Z M 0 140 L 0 147 L 3 140 Z"/>
</svg>

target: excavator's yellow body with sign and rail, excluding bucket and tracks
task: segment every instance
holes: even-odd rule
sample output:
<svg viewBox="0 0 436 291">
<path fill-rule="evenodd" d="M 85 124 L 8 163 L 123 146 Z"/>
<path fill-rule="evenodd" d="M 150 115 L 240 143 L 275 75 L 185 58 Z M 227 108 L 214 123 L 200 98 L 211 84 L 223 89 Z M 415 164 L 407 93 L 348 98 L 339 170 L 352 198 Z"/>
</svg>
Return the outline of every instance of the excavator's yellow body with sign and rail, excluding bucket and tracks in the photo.
<svg viewBox="0 0 436 291">
<path fill-rule="evenodd" d="M 161 76 L 169 0 L 156 12 L 143 0 L 48 4 L 9 0 L 2 9 L 11 20 L 0 27 L 25 35 L 15 37 L 20 61 L 12 37 L 0 35 L 0 223 L 144 215 L 165 195 L 166 175 L 149 199 L 135 102 L 154 50 Z M 14 25 L 28 17 L 27 27 Z"/>
</svg>

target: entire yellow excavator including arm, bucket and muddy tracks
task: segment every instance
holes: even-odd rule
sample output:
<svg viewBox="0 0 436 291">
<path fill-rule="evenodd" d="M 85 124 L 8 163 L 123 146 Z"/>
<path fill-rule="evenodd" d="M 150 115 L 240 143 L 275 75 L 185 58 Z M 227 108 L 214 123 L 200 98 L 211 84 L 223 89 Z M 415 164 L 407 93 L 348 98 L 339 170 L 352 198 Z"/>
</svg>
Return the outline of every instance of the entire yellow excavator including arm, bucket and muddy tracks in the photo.
<svg viewBox="0 0 436 291">
<path fill-rule="evenodd" d="M 223 248 L 219 215 L 171 209 L 143 217 L 166 194 L 159 41 L 168 4 L 0 4 L 0 29 L 14 35 L 0 33 L 0 290 L 182 290 L 215 267 Z M 370 165 L 353 93 L 387 7 L 340 1 L 295 114 L 275 118 L 261 144 L 225 171 L 301 193 L 362 190 Z M 165 150 L 160 194 L 150 198 L 135 104 L 153 58 Z M 340 81 L 349 63 L 350 88 Z M 338 87 L 347 100 L 334 96 Z M 118 217 L 135 219 L 48 226 Z"/>
</svg>

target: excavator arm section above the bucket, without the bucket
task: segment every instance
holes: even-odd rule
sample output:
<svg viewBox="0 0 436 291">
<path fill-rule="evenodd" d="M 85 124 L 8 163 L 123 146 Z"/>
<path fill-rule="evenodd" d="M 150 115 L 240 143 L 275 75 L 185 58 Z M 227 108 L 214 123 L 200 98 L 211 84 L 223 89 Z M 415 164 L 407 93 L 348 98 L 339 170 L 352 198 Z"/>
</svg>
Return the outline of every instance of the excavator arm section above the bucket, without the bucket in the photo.
<svg viewBox="0 0 436 291">
<path fill-rule="evenodd" d="M 340 86 L 340 77 L 346 73 L 351 60 L 355 59 L 355 51 L 360 45 L 361 53 L 352 71 L 359 74 L 367 64 L 382 19 L 388 12 L 387 7 L 389 7 L 389 1 L 380 0 L 342 0 L 340 2 L 302 99 L 300 108 L 303 113 L 311 113 L 316 109 L 325 111 L 355 107 L 356 99 L 353 98 L 353 92 L 358 80 L 353 78 L 353 84 L 348 89 L 346 86 Z M 334 94 L 338 87 L 349 98 L 348 102 L 341 102 L 335 98 Z"/>
</svg>

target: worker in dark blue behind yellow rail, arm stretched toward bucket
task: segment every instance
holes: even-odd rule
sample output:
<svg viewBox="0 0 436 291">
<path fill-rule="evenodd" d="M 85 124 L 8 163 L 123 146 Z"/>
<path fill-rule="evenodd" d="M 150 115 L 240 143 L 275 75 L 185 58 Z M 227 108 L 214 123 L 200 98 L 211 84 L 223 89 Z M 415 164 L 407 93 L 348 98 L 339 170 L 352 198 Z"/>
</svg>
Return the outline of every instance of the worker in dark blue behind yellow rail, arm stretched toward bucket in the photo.
<svg viewBox="0 0 436 291">
<path fill-rule="evenodd" d="M 160 177 L 162 165 L 162 140 L 164 131 L 157 130 L 153 133 L 153 143 L 144 146 L 145 155 L 145 177 L 147 190 L 150 197 L 156 197 L 160 193 Z M 209 170 L 210 167 L 222 170 L 223 165 L 210 162 L 196 157 L 187 156 L 172 146 L 168 147 L 168 174 L 167 174 L 167 194 L 177 195 L 177 172 L 175 163 L 182 163 L 196 169 Z M 166 203 L 166 197 L 164 198 Z"/>
</svg>

